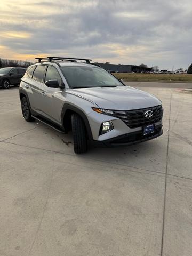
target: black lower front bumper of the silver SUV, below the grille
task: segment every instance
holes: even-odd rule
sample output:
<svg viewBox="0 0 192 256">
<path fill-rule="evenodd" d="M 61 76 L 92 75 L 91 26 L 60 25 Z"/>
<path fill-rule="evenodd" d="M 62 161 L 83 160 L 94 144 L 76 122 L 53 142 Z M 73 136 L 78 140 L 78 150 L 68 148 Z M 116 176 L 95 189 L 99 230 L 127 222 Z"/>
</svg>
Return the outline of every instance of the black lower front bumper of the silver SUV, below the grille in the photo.
<svg viewBox="0 0 192 256">
<path fill-rule="evenodd" d="M 133 145 L 140 142 L 144 142 L 147 140 L 155 139 L 163 134 L 162 125 L 155 126 L 155 130 L 153 134 L 142 135 L 142 130 L 126 133 L 111 139 L 107 140 L 94 140 L 93 144 L 95 146 L 106 146 L 106 147 L 117 147 L 117 146 L 126 146 L 126 145 Z"/>
</svg>

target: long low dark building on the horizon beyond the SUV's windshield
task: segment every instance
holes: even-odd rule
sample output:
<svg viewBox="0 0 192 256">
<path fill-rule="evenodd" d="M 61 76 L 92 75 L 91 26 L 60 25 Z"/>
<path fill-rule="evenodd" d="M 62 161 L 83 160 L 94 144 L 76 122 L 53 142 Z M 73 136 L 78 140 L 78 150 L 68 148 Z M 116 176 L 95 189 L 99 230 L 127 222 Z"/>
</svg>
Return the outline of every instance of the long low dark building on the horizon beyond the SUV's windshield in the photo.
<svg viewBox="0 0 192 256">
<path fill-rule="evenodd" d="M 97 64 L 111 73 L 145 73 L 151 71 L 151 68 L 136 65 L 110 64 L 109 62 Z"/>
</svg>

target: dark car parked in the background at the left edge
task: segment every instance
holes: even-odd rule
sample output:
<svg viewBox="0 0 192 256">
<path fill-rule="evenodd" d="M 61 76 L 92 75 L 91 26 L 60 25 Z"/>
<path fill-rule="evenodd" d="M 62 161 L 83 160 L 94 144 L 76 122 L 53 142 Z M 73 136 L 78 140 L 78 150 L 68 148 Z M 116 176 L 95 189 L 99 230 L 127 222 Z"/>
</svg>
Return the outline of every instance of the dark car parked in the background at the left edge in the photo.
<svg viewBox="0 0 192 256">
<path fill-rule="evenodd" d="M 10 85 L 19 85 L 21 77 L 26 73 L 26 68 L 9 67 L 0 69 L 0 86 L 9 89 Z"/>
</svg>

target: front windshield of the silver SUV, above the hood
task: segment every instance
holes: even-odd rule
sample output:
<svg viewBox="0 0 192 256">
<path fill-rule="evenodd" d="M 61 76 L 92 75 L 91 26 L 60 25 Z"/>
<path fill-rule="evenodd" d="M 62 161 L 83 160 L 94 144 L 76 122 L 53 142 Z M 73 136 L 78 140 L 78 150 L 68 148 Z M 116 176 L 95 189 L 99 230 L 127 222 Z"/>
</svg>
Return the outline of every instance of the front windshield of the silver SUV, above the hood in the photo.
<svg viewBox="0 0 192 256">
<path fill-rule="evenodd" d="M 60 67 L 70 88 L 122 86 L 117 78 L 97 67 Z"/>
</svg>

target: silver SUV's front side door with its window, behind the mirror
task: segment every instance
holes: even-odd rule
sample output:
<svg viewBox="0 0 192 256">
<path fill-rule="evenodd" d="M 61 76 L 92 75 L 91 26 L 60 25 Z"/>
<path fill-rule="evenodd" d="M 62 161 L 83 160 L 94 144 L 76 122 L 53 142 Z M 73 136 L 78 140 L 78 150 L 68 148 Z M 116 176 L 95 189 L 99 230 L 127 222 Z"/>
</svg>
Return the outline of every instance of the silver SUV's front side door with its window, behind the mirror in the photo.
<svg viewBox="0 0 192 256">
<path fill-rule="evenodd" d="M 58 80 L 59 84 L 63 83 L 59 75 L 58 70 L 48 65 L 45 74 L 45 82 L 48 80 Z M 46 118 L 51 121 L 61 124 L 61 109 L 63 106 L 63 101 L 60 99 L 60 94 L 62 89 L 60 88 L 50 88 L 42 84 L 42 99 L 41 99 L 41 110 Z"/>
</svg>

